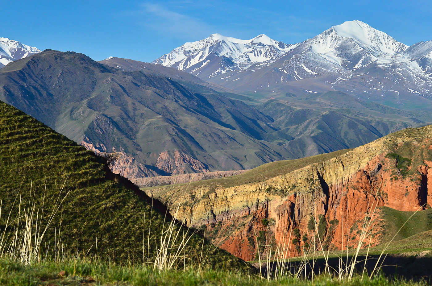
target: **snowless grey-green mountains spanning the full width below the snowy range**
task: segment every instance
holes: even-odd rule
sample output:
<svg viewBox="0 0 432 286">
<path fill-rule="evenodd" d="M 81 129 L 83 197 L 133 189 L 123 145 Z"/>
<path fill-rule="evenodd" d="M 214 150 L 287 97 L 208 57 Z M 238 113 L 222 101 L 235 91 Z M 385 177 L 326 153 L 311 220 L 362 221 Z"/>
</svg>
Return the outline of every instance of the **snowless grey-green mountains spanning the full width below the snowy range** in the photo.
<svg viewBox="0 0 432 286">
<path fill-rule="evenodd" d="M 0 99 L 96 153 L 116 153 L 113 171 L 131 180 L 251 169 L 432 122 L 431 111 L 342 92 L 260 103 L 169 67 L 51 50 L 1 69 Z"/>
</svg>

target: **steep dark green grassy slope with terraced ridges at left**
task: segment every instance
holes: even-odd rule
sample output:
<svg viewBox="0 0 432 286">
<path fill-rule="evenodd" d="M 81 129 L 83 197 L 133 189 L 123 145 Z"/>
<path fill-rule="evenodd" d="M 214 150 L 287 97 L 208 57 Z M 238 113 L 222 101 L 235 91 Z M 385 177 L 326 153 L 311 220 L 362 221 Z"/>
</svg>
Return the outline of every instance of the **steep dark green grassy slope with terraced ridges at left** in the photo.
<svg viewBox="0 0 432 286">
<path fill-rule="evenodd" d="M 143 259 L 145 218 L 144 235 L 150 233 L 154 254 L 153 242 L 160 238 L 164 221 L 159 202 L 154 202 L 152 210 L 151 199 L 130 181 L 111 173 L 103 158 L 0 102 L 0 232 L 6 226 L 5 213 L 12 210 L 11 217 L 17 217 L 19 200 L 23 209 L 34 198 L 40 213 L 44 201 L 41 216 L 47 217 L 57 197 L 66 194 L 48 229 L 47 243 L 54 243 L 61 221 L 60 236 L 68 253 L 96 254 L 97 240 L 98 257 L 139 262 Z M 14 220 L 12 228 L 19 222 L 22 219 Z M 191 262 L 198 261 L 201 244 L 202 238 L 194 235 L 187 249 Z M 211 265 L 244 267 L 240 259 L 210 244 L 205 244 L 204 251 L 209 251 L 207 262 Z"/>
</svg>

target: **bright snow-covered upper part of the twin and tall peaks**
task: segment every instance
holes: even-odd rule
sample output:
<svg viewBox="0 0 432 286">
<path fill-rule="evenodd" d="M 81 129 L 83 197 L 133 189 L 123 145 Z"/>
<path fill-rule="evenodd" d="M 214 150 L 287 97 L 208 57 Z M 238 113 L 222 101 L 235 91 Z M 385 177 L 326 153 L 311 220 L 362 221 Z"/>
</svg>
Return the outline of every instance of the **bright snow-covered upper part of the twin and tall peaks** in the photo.
<svg viewBox="0 0 432 286">
<path fill-rule="evenodd" d="M 314 54 L 312 57 L 318 56 L 324 62 L 353 71 L 372 63 L 382 54 L 398 53 L 407 48 L 365 22 L 353 20 L 297 44 L 285 44 L 264 34 L 241 40 L 216 33 L 200 41 L 184 43 L 153 64 L 175 67 L 200 78 L 211 78 L 264 64 L 287 53 L 311 53 Z"/>
</svg>

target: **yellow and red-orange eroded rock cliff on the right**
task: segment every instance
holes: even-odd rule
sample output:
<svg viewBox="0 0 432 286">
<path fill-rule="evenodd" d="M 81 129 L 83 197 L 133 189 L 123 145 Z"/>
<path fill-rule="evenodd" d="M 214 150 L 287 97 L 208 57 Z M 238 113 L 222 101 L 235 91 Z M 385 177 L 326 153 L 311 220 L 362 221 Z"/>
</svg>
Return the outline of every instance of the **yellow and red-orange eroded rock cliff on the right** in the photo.
<svg viewBox="0 0 432 286">
<path fill-rule="evenodd" d="M 353 229 L 365 217 L 374 214 L 378 223 L 379 207 L 430 208 L 431 168 L 432 126 L 426 126 L 266 181 L 225 188 L 208 181 L 185 197 L 181 186 L 147 194 L 172 207 L 181 203 L 178 219 L 206 229 L 217 246 L 250 261 L 261 245 L 284 245 L 289 256 L 299 255 L 314 233 L 318 248 L 346 249 L 358 242 Z M 268 247 L 261 250 L 265 254 Z"/>
</svg>

